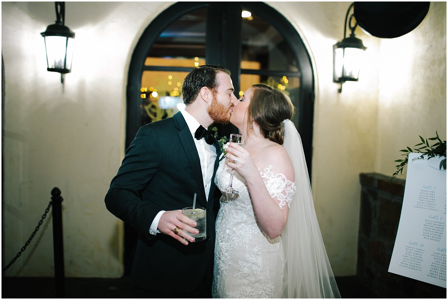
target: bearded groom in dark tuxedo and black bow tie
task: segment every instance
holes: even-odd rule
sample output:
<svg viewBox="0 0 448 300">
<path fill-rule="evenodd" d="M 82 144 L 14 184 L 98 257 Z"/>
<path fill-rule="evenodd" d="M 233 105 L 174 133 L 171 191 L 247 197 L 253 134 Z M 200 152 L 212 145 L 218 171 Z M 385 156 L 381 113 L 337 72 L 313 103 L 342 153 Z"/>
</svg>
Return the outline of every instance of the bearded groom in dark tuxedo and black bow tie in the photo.
<svg viewBox="0 0 448 300">
<path fill-rule="evenodd" d="M 225 67 L 191 71 L 182 87 L 185 110 L 142 126 L 112 179 L 107 209 L 139 232 L 131 262 L 136 297 L 211 298 L 221 149 L 200 126 L 228 123 L 233 91 Z M 194 193 L 207 210 L 207 239 L 198 242 L 185 232 L 196 233 L 196 222 L 180 210 L 193 205 Z"/>
</svg>

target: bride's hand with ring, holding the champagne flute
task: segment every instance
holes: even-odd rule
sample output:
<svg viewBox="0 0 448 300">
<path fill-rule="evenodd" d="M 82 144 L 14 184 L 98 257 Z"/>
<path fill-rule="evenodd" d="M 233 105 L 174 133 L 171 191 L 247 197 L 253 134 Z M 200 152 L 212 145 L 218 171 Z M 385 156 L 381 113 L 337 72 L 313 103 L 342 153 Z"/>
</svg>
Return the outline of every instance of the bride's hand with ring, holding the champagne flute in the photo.
<svg viewBox="0 0 448 300">
<path fill-rule="evenodd" d="M 245 148 L 241 147 L 237 143 L 228 143 L 226 152 L 226 165 L 235 169 L 238 174 L 246 179 L 246 181 L 250 174 L 253 174 L 253 172 L 258 172 L 250 153 Z M 237 157 L 236 161 L 235 157 Z"/>
</svg>

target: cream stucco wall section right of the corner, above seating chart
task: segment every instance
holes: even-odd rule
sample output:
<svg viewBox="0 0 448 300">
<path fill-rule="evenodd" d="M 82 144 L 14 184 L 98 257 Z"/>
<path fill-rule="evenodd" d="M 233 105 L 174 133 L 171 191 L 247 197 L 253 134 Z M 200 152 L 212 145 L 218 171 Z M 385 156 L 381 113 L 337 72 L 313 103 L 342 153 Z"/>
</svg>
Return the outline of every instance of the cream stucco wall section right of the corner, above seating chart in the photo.
<svg viewBox="0 0 448 300">
<path fill-rule="evenodd" d="M 423 22 L 381 41 L 375 170 L 393 174 L 401 149 L 447 136 L 446 2 L 431 2 Z M 429 141 L 430 144 L 435 143 Z M 406 170 L 406 169 L 405 169 Z M 405 171 L 404 171 L 405 172 Z M 405 178 L 405 173 L 401 178 Z"/>
</svg>

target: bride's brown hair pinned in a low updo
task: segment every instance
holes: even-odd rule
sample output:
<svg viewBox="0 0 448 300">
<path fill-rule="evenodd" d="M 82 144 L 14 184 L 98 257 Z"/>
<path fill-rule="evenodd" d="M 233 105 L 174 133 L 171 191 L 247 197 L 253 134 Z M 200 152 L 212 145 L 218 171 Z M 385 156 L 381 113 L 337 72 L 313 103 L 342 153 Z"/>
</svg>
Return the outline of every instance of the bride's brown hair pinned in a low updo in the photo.
<svg viewBox="0 0 448 300">
<path fill-rule="evenodd" d="M 252 99 L 247 118 L 248 130 L 253 120 L 265 138 L 283 145 L 282 122 L 291 119 L 293 114 L 293 103 L 284 92 L 262 83 L 252 85 Z"/>
</svg>

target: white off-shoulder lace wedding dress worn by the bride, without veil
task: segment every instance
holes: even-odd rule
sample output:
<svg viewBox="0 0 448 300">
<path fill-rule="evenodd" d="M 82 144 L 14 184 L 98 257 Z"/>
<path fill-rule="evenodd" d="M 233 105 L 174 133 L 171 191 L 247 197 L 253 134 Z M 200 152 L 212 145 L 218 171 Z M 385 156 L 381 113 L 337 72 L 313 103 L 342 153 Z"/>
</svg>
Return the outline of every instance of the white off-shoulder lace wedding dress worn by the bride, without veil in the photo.
<svg viewBox="0 0 448 300">
<path fill-rule="evenodd" d="M 220 161 L 215 183 L 224 190 L 231 169 Z M 279 209 L 290 205 L 296 187 L 268 165 L 260 174 Z M 280 298 L 284 272 L 281 237 L 270 239 L 258 226 L 244 179 L 234 173 L 235 200 L 221 197 L 216 220 L 213 298 Z"/>
</svg>

